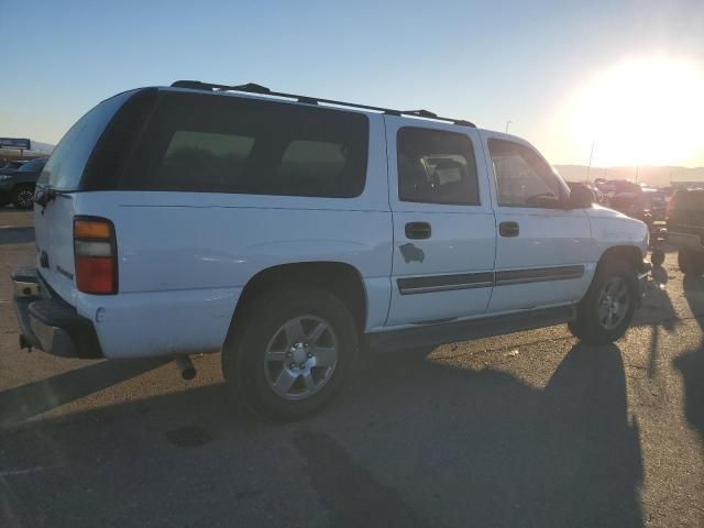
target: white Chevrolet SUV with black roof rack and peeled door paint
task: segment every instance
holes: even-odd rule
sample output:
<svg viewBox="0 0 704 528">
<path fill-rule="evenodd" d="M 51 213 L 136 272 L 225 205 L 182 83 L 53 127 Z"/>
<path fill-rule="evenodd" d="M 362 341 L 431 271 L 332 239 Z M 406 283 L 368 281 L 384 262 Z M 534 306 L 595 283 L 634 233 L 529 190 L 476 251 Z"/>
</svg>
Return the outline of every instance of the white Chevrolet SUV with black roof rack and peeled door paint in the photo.
<svg viewBox="0 0 704 528">
<path fill-rule="evenodd" d="M 221 350 L 229 386 L 270 417 L 330 399 L 360 344 L 562 322 L 613 341 L 646 272 L 646 226 L 570 193 L 518 138 L 258 85 L 101 102 L 35 201 L 21 346 L 190 374 L 188 354 Z"/>
</svg>

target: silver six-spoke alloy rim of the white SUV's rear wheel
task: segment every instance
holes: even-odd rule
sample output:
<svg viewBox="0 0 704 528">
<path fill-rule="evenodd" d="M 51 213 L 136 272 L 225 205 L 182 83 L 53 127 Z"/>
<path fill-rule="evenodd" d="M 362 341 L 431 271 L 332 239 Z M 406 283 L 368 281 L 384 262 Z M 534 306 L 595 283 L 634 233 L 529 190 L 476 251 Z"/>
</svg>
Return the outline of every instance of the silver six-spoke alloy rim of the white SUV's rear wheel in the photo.
<svg viewBox="0 0 704 528">
<path fill-rule="evenodd" d="M 264 354 L 270 388 L 284 399 L 309 398 L 330 381 L 338 364 L 338 338 L 317 316 L 289 319 L 274 333 Z"/>
</svg>

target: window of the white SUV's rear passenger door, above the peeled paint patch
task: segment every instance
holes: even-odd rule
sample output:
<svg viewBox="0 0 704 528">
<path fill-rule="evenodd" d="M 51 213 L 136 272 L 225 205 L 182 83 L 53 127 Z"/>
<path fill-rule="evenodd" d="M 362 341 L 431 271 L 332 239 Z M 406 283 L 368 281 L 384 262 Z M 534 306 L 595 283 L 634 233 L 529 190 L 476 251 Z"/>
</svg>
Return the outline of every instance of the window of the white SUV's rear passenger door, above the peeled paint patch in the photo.
<svg viewBox="0 0 704 528">
<path fill-rule="evenodd" d="M 397 135 L 402 201 L 479 206 L 472 141 L 442 130 L 403 128 Z"/>
</svg>

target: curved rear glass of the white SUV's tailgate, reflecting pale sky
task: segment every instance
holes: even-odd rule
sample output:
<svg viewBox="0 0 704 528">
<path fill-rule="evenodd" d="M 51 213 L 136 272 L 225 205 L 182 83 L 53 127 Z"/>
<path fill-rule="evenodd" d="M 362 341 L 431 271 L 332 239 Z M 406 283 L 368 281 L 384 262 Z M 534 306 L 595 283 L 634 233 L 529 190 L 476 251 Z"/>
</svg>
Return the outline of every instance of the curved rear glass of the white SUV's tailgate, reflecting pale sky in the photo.
<svg viewBox="0 0 704 528">
<path fill-rule="evenodd" d="M 118 109 L 133 94 L 128 91 L 107 99 L 80 118 L 54 148 L 38 184 L 58 190 L 77 190 L 98 139 Z"/>
</svg>

